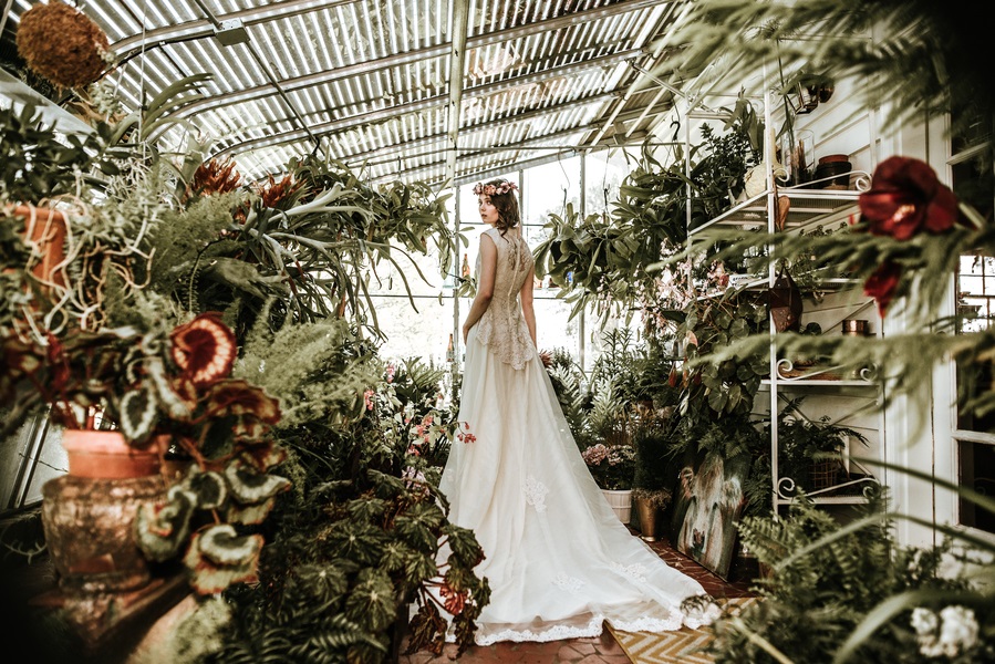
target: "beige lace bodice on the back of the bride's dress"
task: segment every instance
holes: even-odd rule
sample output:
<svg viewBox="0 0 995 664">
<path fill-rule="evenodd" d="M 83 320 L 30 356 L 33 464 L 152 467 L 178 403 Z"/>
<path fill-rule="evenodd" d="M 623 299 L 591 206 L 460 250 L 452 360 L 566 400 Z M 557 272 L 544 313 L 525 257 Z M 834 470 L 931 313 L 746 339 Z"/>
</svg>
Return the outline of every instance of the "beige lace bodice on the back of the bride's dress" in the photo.
<svg viewBox="0 0 995 664">
<path fill-rule="evenodd" d="M 497 273 L 490 305 L 477 322 L 477 339 L 497 354 L 501 362 L 514 369 L 525 369 L 536 347 L 521 314 L 518 291 L 532 268 L 532 253 L 518 230 L 508 231 L 505 237 L 496 228 L 484 232 L 490 236 L 497 247 Z M 480 256 L 477 255 L 477 274 L 479 273 Z"/>
</svg>

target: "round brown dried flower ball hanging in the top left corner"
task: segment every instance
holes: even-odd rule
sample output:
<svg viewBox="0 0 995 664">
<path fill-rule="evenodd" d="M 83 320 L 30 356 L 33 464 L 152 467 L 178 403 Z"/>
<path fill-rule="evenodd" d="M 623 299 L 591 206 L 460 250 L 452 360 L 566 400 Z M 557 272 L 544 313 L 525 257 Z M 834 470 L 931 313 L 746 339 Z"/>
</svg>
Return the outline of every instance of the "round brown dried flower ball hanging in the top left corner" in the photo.
<svg viewBox="0 0 995 664">
<path fill-rule="evenodd" d="M 28 68 L 61 87 L 85 87 L 100 79 L 111 49 L 100 25 L 58 1 L 24 12 L 17 43 Z"/>
</svg>

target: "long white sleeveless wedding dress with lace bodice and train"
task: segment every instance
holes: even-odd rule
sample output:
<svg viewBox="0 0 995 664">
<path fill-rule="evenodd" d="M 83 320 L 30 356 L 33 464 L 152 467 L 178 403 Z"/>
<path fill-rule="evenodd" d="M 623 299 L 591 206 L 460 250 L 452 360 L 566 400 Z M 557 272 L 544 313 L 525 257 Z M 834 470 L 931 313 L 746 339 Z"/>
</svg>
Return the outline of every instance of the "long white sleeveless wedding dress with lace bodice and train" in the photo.
<svg viewBox="0 0 995 664">
<path fill-rule="evenodd" d="M 494 297 L 467 335 L 459 406 L 476 440 L 454 443 L 441 481 L 450 520 L 486 557 L 476 643 L 594 636 L 605 620 L 623 631 L 704 624 L 681 611 L 702 585 L 630 533 L 584 465 L 521 313 L 528 246 L 515 230 L 485 232 L 497 246 Z"/>
</svg>

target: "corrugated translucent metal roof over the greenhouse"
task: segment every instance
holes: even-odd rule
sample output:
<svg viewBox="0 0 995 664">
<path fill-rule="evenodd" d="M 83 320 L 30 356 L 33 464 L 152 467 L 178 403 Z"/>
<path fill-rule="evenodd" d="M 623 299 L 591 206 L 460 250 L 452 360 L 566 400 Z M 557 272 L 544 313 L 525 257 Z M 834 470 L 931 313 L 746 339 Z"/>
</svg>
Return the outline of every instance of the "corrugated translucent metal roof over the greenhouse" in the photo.
<svg viewBox="0 0 995 664">
<path fill-rule="evenodd" d="M 11 1 L 6 51 L 31 4 Z M 214 138 L 211 156 L 230 156 L 248 179 L 317 152 L 372 181 L 442 184 L 452 148 L 453 175 L 466 181 L 595 144 L 638 143 L 672 105 L 671 92 L 638 70 L 661 56 L 660 40 L 684 6 L 87 0 L 80 8 L 107 33 L 117 58 L 108 76 L 129 106 L 183 76 L 213 75 L 199 87 L 205 98 L 182 115 Z M 463 40 L 453 40 L 457 10 L 466 15 L 463 52 Z M 450 76 L 453 63 L 462 77 Z M 458 127 L 449 121 L 454 98 Z"/>
</svg>

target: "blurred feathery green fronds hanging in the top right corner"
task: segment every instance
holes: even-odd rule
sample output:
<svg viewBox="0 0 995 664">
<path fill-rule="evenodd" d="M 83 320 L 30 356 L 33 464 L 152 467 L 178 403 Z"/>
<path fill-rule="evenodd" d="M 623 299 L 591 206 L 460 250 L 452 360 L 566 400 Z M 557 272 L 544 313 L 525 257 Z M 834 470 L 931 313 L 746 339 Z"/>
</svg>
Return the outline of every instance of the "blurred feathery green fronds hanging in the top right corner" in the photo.
<svg viewBox="0 0 995 664">
<path fill-rule="evenodd" d="M 673 37 L 684 46 L 673 71 L 694 69 L 722 53 L 730 81 L 755 74 L 759 62 L 777 62 L 785 72 L 804 70 L 816 80 L 874 81 L 858 89 L 858 102 L 877 107 L 888 100 L 885 129 L 914 120 L 924 108 L 945 108 L 951 135 L 982 139 L 991 172 L 995 96 L 982 64 L 987 62 L 986 31 L 972 18 L 966 10 L 931 0 L 705 0 L 695 3 Z M 812 32 L 819 39 L 799 39 Z M 866 39 L 872 32 L 875 38 Z"/>
</svg>

